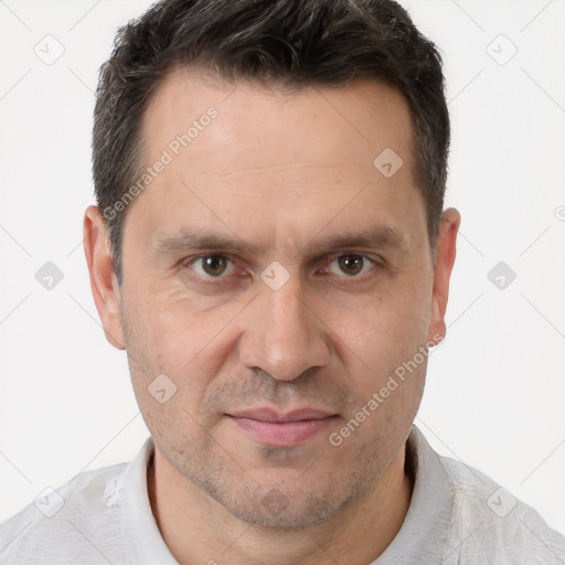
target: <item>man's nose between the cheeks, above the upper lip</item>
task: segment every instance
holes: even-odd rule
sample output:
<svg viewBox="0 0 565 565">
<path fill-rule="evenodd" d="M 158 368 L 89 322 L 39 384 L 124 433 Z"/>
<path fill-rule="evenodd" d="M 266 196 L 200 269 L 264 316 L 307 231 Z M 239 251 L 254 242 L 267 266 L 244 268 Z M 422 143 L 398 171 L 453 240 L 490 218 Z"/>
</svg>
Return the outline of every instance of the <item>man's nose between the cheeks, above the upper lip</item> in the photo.
<svg viewBox="0 0 565 565">
<path fill-rule="evenodd" d="M 246 310 L 241 363 L 278 381 L 292 381 L 309 369 L 326 366 L 331 332 L 317 305 L 320 301 L 301 288 L 298 275 L 278 290 L 263 285 L 260 296 Z"/>
</svg>

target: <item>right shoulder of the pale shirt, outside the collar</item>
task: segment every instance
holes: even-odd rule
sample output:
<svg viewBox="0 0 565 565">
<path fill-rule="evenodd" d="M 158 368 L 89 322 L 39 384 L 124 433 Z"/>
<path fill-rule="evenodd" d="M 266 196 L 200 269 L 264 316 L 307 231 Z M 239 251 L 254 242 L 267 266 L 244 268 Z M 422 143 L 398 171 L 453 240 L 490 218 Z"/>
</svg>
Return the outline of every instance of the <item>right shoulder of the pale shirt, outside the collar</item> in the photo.
<svg viewBox="0 0 565 565">
<path fill-rule="evenodd" d="M 483 472 L 439 456 L 452 494 L 446 553 L 465 563 L 563 564 L 565 537 Z"/>
</svg>

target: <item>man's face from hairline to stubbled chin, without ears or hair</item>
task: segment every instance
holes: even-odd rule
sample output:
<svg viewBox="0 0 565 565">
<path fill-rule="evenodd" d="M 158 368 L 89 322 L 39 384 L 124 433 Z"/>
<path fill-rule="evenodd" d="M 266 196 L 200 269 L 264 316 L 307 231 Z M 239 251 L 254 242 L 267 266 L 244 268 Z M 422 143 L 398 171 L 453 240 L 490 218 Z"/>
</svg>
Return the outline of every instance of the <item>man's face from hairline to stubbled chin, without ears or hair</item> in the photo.
<svg viewBox="0 0 565 565">
<path fill-rule="evenodd" d="M 327 521 L 398 458 L 443 335 L 407 105 L 374 82 L 289 94 L 178 71 L 142 138 L 147 166 L 172 162 L 127 211 L 120 309 L 163 465 L 248 522 Z M 386 148 L 397 171 L 390 150 L 373 163 Z"/>
</svg>

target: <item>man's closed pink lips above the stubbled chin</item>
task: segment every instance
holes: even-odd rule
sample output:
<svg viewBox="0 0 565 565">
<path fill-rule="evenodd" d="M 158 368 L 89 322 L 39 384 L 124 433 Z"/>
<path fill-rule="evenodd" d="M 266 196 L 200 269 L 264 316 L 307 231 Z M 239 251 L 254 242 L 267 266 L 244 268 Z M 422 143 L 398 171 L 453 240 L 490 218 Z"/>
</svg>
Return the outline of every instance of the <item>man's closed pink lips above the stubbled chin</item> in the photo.
<svg viewBox="0 0 565 565">
<path fill-rule="evenodd" d="M 277 412 L 255 408 L 225 414 L 239 430 L 256 441 L 271 447 L 295 447 L 328 428 L 338 414 L 317 408 L 298 408 Z"/>
</svg>

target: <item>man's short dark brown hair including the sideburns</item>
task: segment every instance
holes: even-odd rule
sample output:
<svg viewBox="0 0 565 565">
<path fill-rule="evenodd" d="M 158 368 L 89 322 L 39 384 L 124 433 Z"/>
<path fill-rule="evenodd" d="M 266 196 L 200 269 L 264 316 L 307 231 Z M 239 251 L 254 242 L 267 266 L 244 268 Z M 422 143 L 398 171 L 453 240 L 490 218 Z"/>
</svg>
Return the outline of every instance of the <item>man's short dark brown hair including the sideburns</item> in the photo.
<svg viewBox="0 0 565 565">
<path fill-rule="evenodd" d="M 177 64 L 222 78 L 289 88 L 384 81 L 408 103 L 417 189 L 430 245 L 447 179 L 449 115 L 441 57 L 393 0 L 161 0 L 118 30 L 102 66 L 93 132 L 95 194 L 121 280 L 125 206 L 115 206 L 141 168 L 143 113 Z"/>
</svg>

